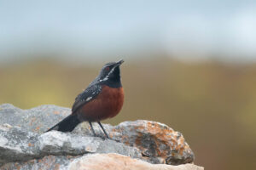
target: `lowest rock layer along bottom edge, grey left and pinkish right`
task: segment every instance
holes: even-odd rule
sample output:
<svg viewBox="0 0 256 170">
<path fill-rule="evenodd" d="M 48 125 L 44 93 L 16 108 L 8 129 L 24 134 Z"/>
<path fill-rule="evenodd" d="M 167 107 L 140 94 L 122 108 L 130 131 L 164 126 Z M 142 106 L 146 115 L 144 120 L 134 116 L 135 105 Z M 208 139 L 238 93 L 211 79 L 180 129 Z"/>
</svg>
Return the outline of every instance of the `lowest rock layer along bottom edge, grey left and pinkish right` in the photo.
<svg viewBox="0 0 256 170">
<path fill-rule="evenodd" d="M 40 170 L 203 170 L 193 164 L 179 166 L 150 164 L 119 154 L 92 154 L 85 156 L 45 156 L 39 160 L 5 164 L 0 169 Z"/>
</svg>

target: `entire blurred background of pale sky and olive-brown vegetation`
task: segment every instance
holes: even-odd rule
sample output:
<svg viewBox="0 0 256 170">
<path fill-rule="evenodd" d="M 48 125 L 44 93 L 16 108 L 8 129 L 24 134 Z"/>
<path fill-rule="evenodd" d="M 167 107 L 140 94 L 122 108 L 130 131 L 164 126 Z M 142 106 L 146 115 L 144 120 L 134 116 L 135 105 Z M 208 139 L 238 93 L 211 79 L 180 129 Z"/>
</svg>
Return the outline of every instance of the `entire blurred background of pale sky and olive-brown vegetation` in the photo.
<svg viewBox="0 0 256 170">
<path fill-rule="evenodd" d="M 0 1 L 0 103 L 71 107 L 125 59 L 125 105 L 183 133 L 195 164 L 256 167 L 256 2 Z"/>
</svg>

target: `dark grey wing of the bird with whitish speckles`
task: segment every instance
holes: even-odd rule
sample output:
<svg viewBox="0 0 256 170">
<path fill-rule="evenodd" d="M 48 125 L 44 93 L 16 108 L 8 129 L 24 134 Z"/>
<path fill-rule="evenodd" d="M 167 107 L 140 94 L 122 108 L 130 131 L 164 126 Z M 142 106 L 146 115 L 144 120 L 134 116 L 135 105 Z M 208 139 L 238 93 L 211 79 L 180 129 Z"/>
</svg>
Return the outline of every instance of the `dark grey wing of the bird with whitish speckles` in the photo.
<svg viewBox="0 0 256 170">
<path fill-rule="evenodd" d="M 78 111 L 78 109 L 81 106 L 86 105 L 86 103 L 90 102 L 91 99 L 95 99 L 96 96 L 101 93 L 101 91 L 102 91 L 101 85 L 94 84 L 86 88 L 84 92 L 82 92 L 76 97 L 72 107 L 72 114 Z"/>
</svg>

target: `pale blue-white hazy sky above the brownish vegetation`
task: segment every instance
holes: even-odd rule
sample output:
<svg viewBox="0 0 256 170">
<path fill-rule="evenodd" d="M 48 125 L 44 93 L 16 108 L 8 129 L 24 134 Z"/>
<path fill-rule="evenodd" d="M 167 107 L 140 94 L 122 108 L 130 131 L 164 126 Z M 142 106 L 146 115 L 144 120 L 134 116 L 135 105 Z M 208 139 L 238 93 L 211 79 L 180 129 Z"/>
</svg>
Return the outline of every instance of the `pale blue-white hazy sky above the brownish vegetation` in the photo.
<svg viewBox="0 0 256 170">
<path fill-rule="evenodd" d="M 256 60 L 256 1 L 0 0 L 0 62 L 42 51 Z"/>
</svg>

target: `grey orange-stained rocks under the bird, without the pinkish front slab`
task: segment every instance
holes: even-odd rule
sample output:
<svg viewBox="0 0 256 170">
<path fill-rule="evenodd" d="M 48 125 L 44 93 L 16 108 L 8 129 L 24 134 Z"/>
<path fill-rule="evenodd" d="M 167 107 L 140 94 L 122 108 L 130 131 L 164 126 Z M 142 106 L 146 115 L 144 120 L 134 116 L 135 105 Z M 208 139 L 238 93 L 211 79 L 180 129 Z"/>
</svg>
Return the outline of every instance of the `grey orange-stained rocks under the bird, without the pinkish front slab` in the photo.
<svg viewBox="0 0 256 170">
<path fill-rule="evenodd" d="M 72 133 L 43 133 L 69 114 L 70 109 L 55 105 L 30 110 L 0 105 L 0 166 L 5 164 L 0 169 L 67 169 L 79 157 L 95 153 L 117 153 L 172 165 L 195 159 L 183 135 L 159 122 L 122 122 L 115 127 L 104 124 L 111 139 L 104 139 L 96 123 L 94 127 L 100 138 L 93 137 L 86 122 Z M 49 168 L 44 168 L 45 165 Z"/>
</svg>

